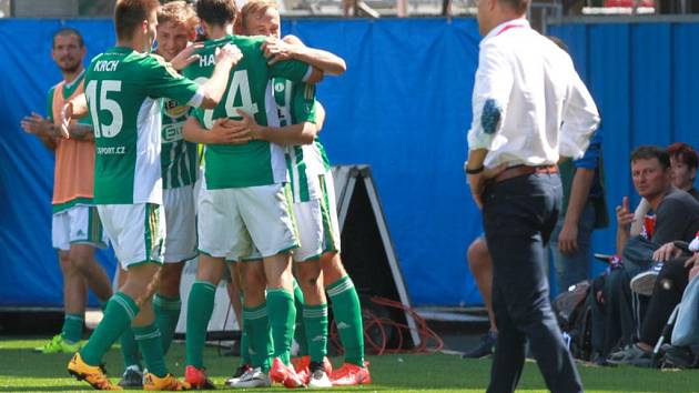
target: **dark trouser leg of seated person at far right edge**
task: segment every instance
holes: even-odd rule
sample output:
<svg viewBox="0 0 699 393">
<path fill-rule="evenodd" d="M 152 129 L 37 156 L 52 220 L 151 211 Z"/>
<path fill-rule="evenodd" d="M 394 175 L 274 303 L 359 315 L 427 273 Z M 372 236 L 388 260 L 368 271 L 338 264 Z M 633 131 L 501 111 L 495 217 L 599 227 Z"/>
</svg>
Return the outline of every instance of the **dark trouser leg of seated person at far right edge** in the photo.
<svg viewBox="0 0 699 393">
<path fill-rule="evenodd" d="M 678 258 L 662 265 L 641 324 L 641 342 L 650 345 L 658 342 L 672 310 L 682 300 L 682 293 L 689 283 L 690 268 L 685 268 L 687 259 L 688 256 Z"/>
</svg>

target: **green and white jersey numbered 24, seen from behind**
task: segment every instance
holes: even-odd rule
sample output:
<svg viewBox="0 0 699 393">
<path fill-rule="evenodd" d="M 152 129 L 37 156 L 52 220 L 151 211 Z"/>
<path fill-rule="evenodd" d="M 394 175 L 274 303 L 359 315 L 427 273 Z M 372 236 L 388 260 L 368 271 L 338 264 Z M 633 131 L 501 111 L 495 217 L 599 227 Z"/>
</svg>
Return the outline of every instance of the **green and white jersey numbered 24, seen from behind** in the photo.
<svg viewBox="0 0 699 393">
<path fill-rule="evenodd" d="M 236 110 L 254 115 L 259 124 L 276 124 L 276 107 L 272 101 L 273 77 L 293 81 L 306 80 L 312 68 L 300 61 L 281 61 L 267 66 L 261 49 L 264 37 L 229 36 L 204 42 L 199 51 L 199 62 L 184 70 L 190 79 L 204 83 L 212 74 L 215 62 L 215 49 L 233 43 L 243 52 L 243 58 L 231 71 L 226 92 L 214 110 L 194 110 L 194 117 L 206 129 L 220 118 L 240 119 Z M 286 181 L 284 149 L 266 141 L 251 141 L 240 145 L 207 145 L 204 152 L 204 178 L 206 188 L 230 189 L 267 185 Z"/>
</svg>

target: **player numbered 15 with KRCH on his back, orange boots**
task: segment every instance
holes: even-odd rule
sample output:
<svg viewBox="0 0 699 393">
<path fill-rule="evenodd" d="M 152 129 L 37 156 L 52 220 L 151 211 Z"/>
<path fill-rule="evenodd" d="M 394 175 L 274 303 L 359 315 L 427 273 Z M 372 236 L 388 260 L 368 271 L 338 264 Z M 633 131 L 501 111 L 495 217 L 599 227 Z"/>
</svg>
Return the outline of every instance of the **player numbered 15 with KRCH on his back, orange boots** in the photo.
<svg viewBox="0 0 699 393">
<path fill-rule="evenodd" d="M 129 271 L 90 341 L 68 364 L 72 375 L 98 390 L 121 390 L 111 384 L 100 363 L 129 325 L 149 371 L 143 387 L 189 387 L 168 372 L 151 302 L 164 238 L 160 98 L 214 108 L 241 53 L 233 46 L 222 47 L 214 57 L 211 79 L 199 87 L 149 53 L 156 36 L 159 8 L 158 0 L 116 2 L 116 47 L 95 57 L 88 68 L 87 101 L 74 99 L 63 108 L 62 124 L 73 114 L 85 114 L 89 108 L 97 143 L 94 202 L 116 258 Z"/>
</svg>

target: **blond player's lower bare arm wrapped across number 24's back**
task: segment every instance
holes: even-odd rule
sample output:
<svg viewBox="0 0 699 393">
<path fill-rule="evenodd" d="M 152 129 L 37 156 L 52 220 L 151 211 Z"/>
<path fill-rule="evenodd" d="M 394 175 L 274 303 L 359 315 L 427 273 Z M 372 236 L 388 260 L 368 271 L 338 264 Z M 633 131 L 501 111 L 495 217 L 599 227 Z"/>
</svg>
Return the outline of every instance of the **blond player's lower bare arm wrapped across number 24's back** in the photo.
<svg viewBox="0 0 699 393">
<path fill-rule="evenodd" d="M 318 133 L 317 125 L 308 121 L 285 127 L 269 127 L 260 125 L 253 117 L 240 109 L 237 113 L 243 119 L 229 119 L 226 127 L 239 132 L 246 132 L 252 139 L 261 139 L 281 145 L 298 145 L 313 143 Z"/>
</svg>

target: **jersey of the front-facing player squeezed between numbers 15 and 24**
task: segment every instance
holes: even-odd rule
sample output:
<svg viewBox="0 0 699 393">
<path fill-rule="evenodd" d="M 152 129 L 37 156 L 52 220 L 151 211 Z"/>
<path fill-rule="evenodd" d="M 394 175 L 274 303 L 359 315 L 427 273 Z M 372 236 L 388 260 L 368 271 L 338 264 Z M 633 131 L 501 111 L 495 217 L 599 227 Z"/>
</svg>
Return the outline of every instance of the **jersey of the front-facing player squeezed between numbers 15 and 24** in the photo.
<svg viewBox="0 0 699 393">
<path fill-rule="evenodd" d="M 182 127 L 189 112 L 188 105 L 170 99 L 163 100 L 160 163 L 165 190 L 194 184 L 196 181 L 197 147 L 182 137 Z"/>
</svg>

